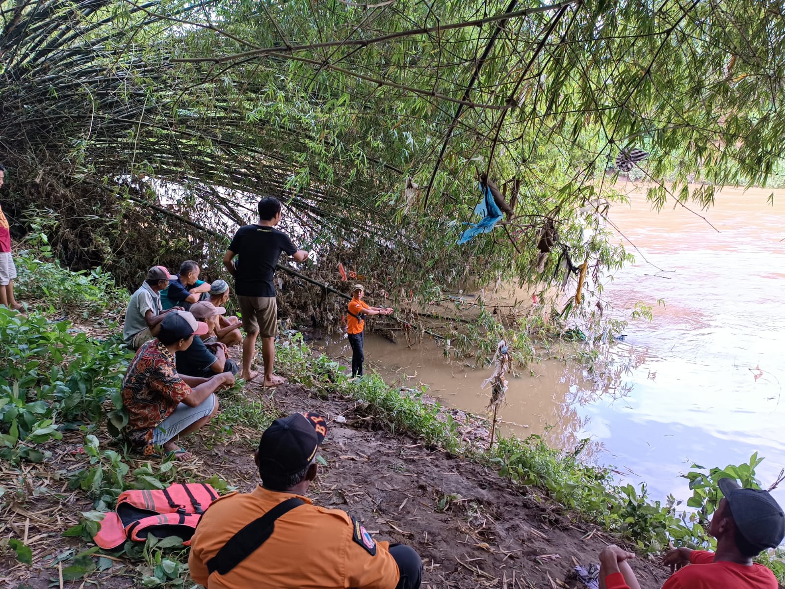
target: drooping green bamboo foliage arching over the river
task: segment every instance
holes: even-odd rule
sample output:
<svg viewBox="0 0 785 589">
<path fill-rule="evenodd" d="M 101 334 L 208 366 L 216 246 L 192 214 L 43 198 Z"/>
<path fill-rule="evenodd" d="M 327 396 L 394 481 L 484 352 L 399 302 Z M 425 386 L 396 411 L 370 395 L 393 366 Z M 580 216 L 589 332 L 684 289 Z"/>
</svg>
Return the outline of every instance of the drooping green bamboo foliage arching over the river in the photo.
<svg viewBox="0 0 785 589">
<path fill-rule="evenodd" d="M 565 253 L 597 276 L 626 259 L 602 204 L 620 150 L 651 152 L 634 173 L 659 206 L 686 204 L 692 180 L 707 182 L 701 206 L 714 185 L 779 181 L 780 12 L 0 0 L 10 209 L 56 211 L 64 258 L 126 281 L 151 258 L 215 260 L 225 245 L 145 203 L 231 231 L 266 193 L 287 199 L 306 246 L 338 248 L 393 294 L 473 276 L 562 284 Z M 479 174 L 515 195 L 514 216 L 457 246 Z"/>
</svg>

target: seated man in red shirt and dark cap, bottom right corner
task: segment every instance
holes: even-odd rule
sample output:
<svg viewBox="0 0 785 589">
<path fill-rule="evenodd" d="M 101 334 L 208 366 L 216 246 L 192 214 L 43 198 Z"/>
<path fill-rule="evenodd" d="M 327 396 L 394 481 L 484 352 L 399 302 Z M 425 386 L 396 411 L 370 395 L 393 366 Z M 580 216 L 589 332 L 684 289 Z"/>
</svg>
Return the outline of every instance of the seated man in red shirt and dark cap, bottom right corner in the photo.
<svg viewBox="0 0 785 589">
<path fill-rule="evenodd" d="M 663 589 L 777 589 L 774 574 L 752 559 L 785 538 L 785 514 L 768 491 L 741 488 L 736 481 L 717 482 L 724 497 L 711 518 L 709 533 L 717 538 L 717 551 L 677 548 L 663 558 L 675 572 Z M 635 554 L 618 546 L 600 553 L 601 589 L 640 589 L 627 560 Z M 687 566 L 688 565 L 688 566 Z"/>
</svg>

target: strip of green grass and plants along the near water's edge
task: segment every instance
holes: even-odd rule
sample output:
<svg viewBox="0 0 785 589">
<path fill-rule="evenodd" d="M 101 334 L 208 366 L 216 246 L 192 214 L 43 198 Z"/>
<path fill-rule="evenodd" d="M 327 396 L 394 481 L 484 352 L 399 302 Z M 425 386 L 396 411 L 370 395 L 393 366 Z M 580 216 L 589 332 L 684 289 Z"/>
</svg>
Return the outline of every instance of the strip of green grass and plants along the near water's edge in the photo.
<svg viewBox="0 0 785 589">
<path fill-rule="evenodd" d="M 669 542 L 675 546 L 711 550 L 714 538 L 706 529 L 717 508 L 721 494 L 717 481 L 731 477 L 743 485 L 760 488 L 755 467 L 761 463 L 757 454 L 750 462 L 738 466 L 706 469 L 696 464 L 684 476 L 692 496 L 685 511 L 678 509 L 681 501 L 669 496 L 665 503 L 652 501 L 646 485 L 620 485 L 610 470 L 582 462 L 582 441 L 571 452 L 550 448 L 539 435 L 524 440 L 502 437 L 491 450 L 477 448 L 460 440 L 455 420 L 443 412 L 439 404 L 423 400 L 425 391 L 410 392 L 387 385 L 378 375 L 359 381 L 350 380 L 338 363 L 326 356 L 314 356 L 300 335 L 284 342 L 278 353 L 281 371 L 304 386 L 324 395 L 336 394 L 358 401 L 361 414 L 374 417 L 374 423 L 392 432 L 411 435 L 447 452 L 462 454 L 498 470 L 523 485 L 531 485 L 564 506 L 569 513 L 597 522 L 612 532 L 633 541 L 646 553 L 659 553 Z M 785 553 L 761 555 L 767 564 L 785 580 Z"/>
</svg>

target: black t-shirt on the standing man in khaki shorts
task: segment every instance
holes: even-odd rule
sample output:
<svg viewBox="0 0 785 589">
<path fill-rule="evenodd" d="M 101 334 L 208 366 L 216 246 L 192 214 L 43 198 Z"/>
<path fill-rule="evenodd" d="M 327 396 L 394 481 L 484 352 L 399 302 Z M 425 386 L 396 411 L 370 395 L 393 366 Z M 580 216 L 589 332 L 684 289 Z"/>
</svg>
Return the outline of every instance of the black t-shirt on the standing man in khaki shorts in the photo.
<svg viewBox="0 0 785 589">
<path fill-rule="evenodd" d="M 281 252 L 294 255 L 297 247 L 279 229 L 245 225 L 235 233 L 229 250 L 237 254 L 235 292 L 246 297 L 274 297 L 276 287 L 272 276 Z"/>
</svg>

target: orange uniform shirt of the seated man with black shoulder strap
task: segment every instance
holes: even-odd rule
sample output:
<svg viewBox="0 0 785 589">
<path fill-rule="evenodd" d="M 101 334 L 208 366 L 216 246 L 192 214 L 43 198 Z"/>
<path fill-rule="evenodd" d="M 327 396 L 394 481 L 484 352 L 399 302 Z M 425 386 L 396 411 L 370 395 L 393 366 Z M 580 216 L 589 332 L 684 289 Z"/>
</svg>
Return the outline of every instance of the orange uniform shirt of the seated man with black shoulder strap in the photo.
<svg viewBox="0 0 785 589">
<path fill-rule="evenodd" d="M 226 575 L 210 575 L 207 562 L 236 532 L 291 497 L 305 505 L 278 518 L 272 536 Z M 365 546 L 355 540 L 356 531 Z M 188 566 L 193 580 L 207 589 L 395 589 L 400 573 L 389 543 L 375 542 L 374 550 L 368 543 L 374 540 L 345 511 L 260 485 L 210 505 L 193 536 Z"/>
</svg>

